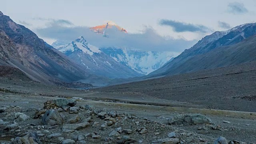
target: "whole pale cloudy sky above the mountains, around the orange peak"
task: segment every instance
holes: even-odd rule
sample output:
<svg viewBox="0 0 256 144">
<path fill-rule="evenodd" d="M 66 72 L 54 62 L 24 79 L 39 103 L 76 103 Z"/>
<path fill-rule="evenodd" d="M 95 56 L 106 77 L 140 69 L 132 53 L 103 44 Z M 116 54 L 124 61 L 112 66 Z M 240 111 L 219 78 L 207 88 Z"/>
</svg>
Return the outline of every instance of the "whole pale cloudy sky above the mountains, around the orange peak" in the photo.
<svg viewBox="0 0 256 144">
<path fill-rule="evenodd" d="M 255 22 L 256 0 L 1 0 L 0 11 L 48 44 L 82 35 L 98 47 L 179 54 L 215 31 Z M 110 20 L 128 34 L 89 30 Z"/>
</svg>

